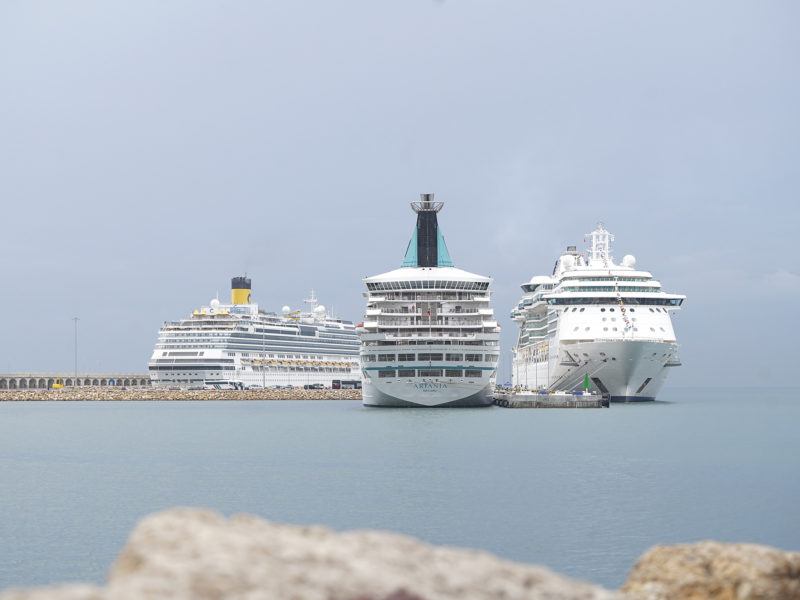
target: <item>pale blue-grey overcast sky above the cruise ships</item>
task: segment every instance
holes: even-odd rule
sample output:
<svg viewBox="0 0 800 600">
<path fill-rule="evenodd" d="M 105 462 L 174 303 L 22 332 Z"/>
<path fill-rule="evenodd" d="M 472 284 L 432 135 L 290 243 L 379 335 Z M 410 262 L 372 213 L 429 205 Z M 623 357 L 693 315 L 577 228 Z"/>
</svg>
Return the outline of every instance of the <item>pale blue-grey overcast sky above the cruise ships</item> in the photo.
<svg viewBox="0 0 800 600">
<path fill-rule="evenodd" d="M 800 4 L 0 2 L 0 372 L 144 373 L 231 277 L 359 322 L 420 193 L 519 285 L 602 221 L 669 292 L 668 386 L 796 386 Z"/>
</svg>

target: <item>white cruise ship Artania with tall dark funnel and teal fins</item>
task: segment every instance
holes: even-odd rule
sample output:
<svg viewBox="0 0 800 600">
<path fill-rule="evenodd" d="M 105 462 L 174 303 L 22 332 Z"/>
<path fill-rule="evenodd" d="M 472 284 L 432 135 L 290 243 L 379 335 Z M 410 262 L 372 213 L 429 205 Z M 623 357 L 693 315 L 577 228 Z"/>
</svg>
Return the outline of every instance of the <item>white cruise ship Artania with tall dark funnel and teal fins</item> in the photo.
<svg viewBox="0 0 800 600">
<path fill-rule="evenodd" d="M 437 213 L 422 194 L 400 269 L 364 279 L 361 338 L 365 406 L 489 406 L 500 329 L 489 305 L 491 278 L 453 266 Z"/>
</svg>

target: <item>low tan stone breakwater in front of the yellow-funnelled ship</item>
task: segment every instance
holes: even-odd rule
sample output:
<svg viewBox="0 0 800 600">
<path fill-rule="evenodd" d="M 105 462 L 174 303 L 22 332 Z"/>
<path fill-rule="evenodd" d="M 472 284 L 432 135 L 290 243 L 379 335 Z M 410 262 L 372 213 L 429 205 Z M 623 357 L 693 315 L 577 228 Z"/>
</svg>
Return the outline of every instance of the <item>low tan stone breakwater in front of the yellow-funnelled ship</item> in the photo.
<svg viewBox="0 0 800 600">
<path fill-rule="evenodd" d="M 108 387 L 60 390 L 4 390 L 0 402 L 158 401 L 158 400 L 361 400 L 361 390 L 159 390 Z"/>
</svg>

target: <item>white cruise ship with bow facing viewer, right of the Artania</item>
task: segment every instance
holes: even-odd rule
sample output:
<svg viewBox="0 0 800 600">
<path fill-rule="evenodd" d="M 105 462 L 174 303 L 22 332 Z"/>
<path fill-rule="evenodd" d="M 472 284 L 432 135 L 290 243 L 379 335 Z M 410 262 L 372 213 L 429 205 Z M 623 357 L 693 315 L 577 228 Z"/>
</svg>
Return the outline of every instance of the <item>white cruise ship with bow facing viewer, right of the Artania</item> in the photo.
<svg viewBox="0 0 800 600">
<path fill-rule="evenodd" d="M 552 276 L 522 285 L 511 312 L 520 324 L 512 383 L 578 391 L 588 376 L 612 401 L 655 400 L 670 368 L 681 364 L 670 315 L 686 296 L 664 292 L 631 255 L 614 263 L 614 236 L 602 223 L 588 237 L 586 254 L 569 246 Z"/>
</svg>

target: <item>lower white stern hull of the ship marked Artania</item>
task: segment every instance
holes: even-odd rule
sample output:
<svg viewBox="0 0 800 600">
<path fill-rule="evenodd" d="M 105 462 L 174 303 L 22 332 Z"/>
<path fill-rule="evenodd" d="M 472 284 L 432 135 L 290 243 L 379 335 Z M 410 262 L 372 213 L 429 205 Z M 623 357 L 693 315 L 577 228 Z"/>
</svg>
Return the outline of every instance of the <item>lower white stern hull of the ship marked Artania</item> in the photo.
<svg viewBox="0 0 800 600">
<path fill-rule="evenodd" d="M 491 406 L 493 383 L 447 381 L 365 381 L 364 406 L 455 408 Z"/>
</svg>

